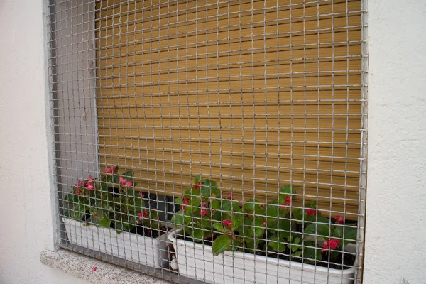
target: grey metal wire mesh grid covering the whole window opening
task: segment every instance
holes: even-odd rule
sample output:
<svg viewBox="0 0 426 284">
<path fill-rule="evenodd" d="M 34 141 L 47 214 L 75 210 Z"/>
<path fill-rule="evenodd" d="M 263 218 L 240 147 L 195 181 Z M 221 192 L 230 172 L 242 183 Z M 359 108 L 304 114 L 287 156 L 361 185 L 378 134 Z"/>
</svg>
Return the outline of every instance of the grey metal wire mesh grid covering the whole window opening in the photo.
<svg viewBox="0 0 426 284">
<path fill-rule="evenodd" d="M 47 5 L 62 248 L 176 283 L 361 283 L 365 0 Z"/>
</svg>

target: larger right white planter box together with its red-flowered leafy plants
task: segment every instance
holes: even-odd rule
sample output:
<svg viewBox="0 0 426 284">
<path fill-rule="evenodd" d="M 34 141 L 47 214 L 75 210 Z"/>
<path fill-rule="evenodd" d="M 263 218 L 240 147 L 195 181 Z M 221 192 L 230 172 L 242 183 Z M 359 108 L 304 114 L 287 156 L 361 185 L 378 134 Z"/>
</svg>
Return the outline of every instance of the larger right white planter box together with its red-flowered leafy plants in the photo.
<svg viewBox="0 0 426 284">
<path fill-rule="evenodd" d="M 178 199 L 169 235 L 181 275 L 208 283 L 353 283 L 356 226 L 321 217 L 316 202 L 292 210 L 295 189 L 267 204 L 222 197 L 217 183 L 195 178 Z"/>
</svg>

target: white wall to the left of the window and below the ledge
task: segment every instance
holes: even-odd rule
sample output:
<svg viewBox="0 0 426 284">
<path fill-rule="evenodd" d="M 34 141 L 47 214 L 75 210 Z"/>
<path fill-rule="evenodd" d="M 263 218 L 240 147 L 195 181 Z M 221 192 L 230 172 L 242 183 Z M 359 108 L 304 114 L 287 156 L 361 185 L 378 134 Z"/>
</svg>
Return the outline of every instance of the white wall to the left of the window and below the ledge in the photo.
<svg viewBox="0 0 426 284">
<path fill-rule="evenodd" d="M 40 263 L 53 249 L 44 1 L 0 1 L 0 283 L 87 283 Z"/>
</svg>

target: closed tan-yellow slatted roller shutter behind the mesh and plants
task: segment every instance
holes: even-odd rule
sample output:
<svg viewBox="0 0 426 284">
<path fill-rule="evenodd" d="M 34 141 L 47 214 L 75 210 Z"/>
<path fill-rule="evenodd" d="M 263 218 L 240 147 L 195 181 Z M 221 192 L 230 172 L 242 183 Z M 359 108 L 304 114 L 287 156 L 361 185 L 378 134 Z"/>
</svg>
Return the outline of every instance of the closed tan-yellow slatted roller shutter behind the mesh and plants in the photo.
<svg viewBox="0 0 426 284">
<path fill-rule="evenodd" d="M 223 3 L 222 3 L 223 2 Z M 277 6 L 278 5 L 278 6 Z M 102 165 L 179 196 L 194 176 L 356 219 L 361 1 L 100 1 Z"/>
</svg>

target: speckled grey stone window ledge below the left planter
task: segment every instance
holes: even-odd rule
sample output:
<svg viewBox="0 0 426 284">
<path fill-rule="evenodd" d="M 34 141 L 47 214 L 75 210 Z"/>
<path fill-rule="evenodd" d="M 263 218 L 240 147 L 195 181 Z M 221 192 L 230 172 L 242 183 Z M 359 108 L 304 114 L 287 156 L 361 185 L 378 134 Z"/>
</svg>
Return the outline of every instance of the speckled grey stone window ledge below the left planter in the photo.
<svg viewBox="0 0 426 284">
<path fill-rule="evenodd" d="M 40 261 L 46 266 L 97 284 L 170 284 L 168 281 L 114 266 L 113 264 L 65 249 L 43 251 L 40 253 Z M 92 272 L 94 267 L 97 267 L 97 269 Z"/>
</svg>

